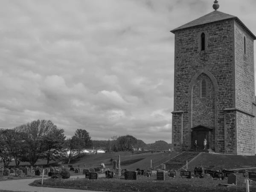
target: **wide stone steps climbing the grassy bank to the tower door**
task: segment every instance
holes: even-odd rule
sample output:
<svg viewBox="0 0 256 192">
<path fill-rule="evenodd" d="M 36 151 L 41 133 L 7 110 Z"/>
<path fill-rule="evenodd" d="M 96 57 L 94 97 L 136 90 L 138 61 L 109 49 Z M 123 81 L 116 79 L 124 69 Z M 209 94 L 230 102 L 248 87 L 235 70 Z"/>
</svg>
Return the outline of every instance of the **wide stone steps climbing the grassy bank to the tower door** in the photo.
<svg viewBox="0 0 256 192">
<path fill-rule="evenodd" d="M 189 163 L 189 161 L 194 159 L 198 154 L 200 154 L 200 152 L 185 151 L 162 164 L 166 165 L 166 170 L 179 170 L 186 165 L 186 161 Z M 155 167 L 154 169 L 161 169 L 162 164 Z"/>
</svg>

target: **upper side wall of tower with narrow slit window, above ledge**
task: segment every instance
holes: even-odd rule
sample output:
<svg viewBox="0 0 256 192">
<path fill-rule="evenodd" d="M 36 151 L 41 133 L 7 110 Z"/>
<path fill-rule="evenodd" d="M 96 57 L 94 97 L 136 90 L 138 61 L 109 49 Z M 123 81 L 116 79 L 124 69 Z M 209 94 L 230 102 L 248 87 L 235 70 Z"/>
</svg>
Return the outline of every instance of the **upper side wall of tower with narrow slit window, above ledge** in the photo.
<svg viewBox="0 0 256 192">
<path fill-rule="evenodd" d="M 244 54 L 244 37 L 246 38 L 246 54 Z M 236 76 L 236 108 L 253 113 L 255 96 L 254 88 L 254 55 L 253 39 L 235 22 L 235 76 Z"/>
</svg>

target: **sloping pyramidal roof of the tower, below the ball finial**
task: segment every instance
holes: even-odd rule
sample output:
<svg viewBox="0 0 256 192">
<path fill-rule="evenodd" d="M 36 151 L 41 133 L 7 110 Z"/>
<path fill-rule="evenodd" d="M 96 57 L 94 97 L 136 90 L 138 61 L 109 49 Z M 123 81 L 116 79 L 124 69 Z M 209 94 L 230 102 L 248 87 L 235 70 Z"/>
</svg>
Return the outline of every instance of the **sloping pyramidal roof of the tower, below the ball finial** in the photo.
<svg viewBox="0 0 256 192">
<path fill-rule="evenodd" d="M 208 13 L 207 15 L 204 15 L 202 17 L 199 17 L 196 20 L 192 20 L 189 23 L 186 23 L 180 27 L 177 27 L 176 29 L 173 29 L 171 32 L 175 33 L 175 31 L 180 30 L 180 29 L 185 29 L 193 26 L 198 26 L 198 25 L 203 25 L 206 23 L 212 23 L 220 20 L 226 20 L 226 19 L 235 19 L 237 23 L 254 39 L 256 40 L 256 36 L 253 35 L 253 33 L 244 25 L 244 23 L 239 20 L 238 17 L 229 15 L 227 13 L 219 12 L 217 10 Z"/>
</svg>

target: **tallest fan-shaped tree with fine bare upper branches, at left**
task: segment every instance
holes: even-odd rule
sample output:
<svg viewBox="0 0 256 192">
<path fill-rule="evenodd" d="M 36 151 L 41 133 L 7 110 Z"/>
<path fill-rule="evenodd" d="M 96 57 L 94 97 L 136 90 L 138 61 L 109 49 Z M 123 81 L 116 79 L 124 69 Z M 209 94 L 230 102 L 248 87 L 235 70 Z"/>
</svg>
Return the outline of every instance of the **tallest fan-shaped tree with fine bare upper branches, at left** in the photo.
<svg viewBox="0 0 256 192">
<path fill-rule="evenodd" d="M 16 129 L 26 136 L 24 141 L 27 148 L 21 161 L 29 162 L 31 166 L 34 166 L 38 159 L 43 159 L 45 152 L 44 136 L 49 135 L 56 127 L 50 120 L 39 119 L 17 127 Z"/>
</svg>

